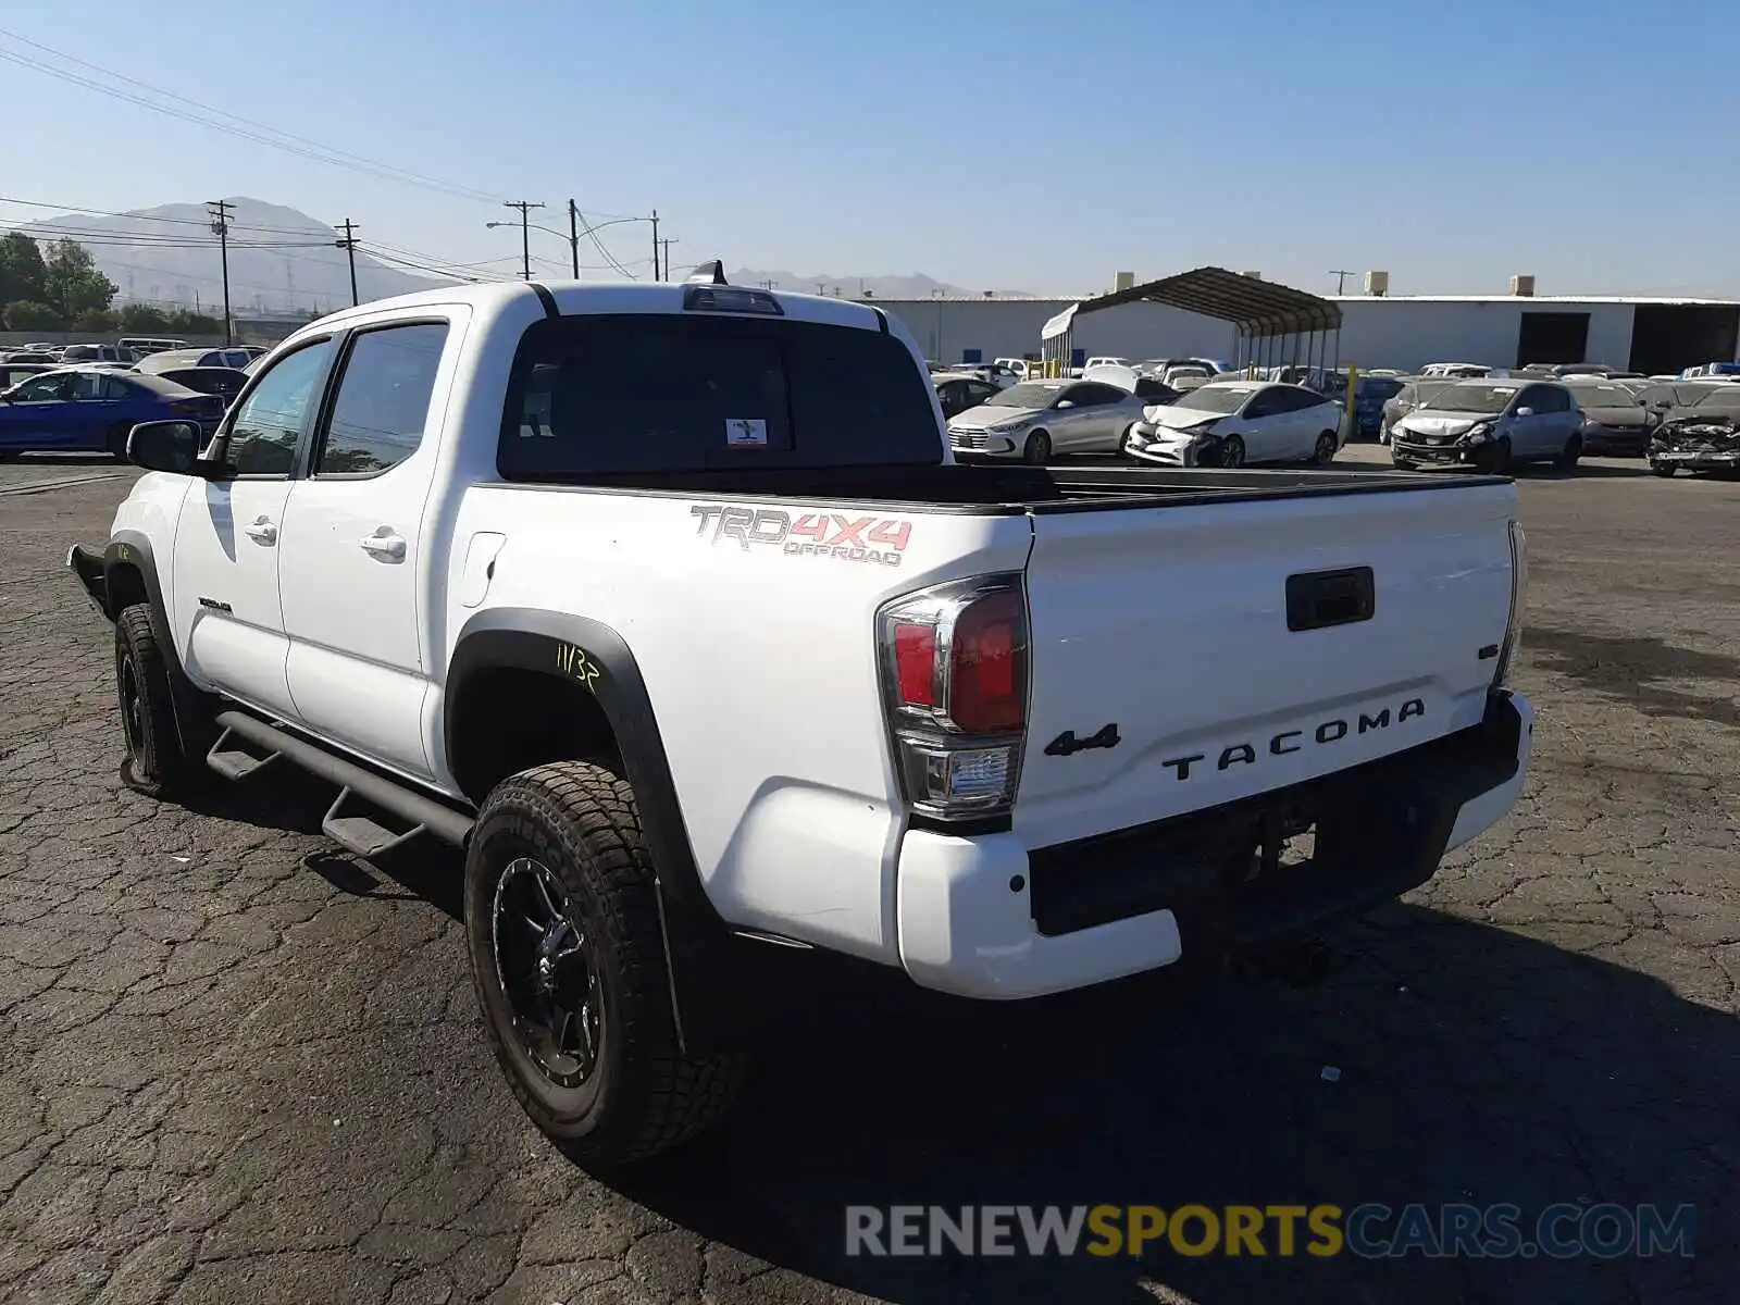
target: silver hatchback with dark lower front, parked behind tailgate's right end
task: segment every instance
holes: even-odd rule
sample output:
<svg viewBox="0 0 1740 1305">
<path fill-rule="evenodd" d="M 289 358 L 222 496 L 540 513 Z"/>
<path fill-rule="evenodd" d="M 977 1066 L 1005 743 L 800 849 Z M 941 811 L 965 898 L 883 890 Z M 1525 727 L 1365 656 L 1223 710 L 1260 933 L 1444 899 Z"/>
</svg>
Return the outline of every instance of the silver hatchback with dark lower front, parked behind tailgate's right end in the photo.
<svg viewBox="0 0 1740 1305">
<path fill-rule="evenodd" d="M 1557 381 L 1460 381 L 1390 430 L 1390 461 L 1467 463 L 1498 473 L 1512 463 L 1550 461 L 1561 470 L 1583 454 L 1583 414 Z"/>
</svg>

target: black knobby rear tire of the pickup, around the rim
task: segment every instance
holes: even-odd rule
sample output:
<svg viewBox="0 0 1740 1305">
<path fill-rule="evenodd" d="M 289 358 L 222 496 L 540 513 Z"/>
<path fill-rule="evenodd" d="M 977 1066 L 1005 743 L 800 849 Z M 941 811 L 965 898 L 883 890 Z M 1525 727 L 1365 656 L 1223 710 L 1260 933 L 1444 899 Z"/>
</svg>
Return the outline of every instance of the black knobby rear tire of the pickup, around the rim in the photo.
<svg viewBox="0 0 1740 1305">
<path fill-rule="evenodd" d="M 496 964 L 496 886 L 529 856 L 569 894 L 597 966 L 597 1063 L 572 1088 L 534 1063 Z M 677 1041 L 652 860 L 630 785 L 590 762 L 503 780 L 484 800 L 465 863 L 465 931 L 496 1061 L 532 1122 L 586 1168 L 640 1161 L 694 1138 L 743 1086 L 743 1053 L 684 1056 Z"/>
</svg>

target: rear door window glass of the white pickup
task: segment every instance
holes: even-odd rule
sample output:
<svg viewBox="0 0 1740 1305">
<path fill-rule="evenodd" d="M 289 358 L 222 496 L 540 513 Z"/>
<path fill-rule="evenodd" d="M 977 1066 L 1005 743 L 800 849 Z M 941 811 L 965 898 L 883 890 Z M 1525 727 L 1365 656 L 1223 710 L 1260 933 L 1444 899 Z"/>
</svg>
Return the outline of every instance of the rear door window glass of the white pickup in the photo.
<svg viewBox="0 0 1740 1305">
<path fill-rule="evenodd" d="M 379 475 L 423 442 L 445 322 L 364 331 L 339 372 L 315 475 Z"/>
</svg>

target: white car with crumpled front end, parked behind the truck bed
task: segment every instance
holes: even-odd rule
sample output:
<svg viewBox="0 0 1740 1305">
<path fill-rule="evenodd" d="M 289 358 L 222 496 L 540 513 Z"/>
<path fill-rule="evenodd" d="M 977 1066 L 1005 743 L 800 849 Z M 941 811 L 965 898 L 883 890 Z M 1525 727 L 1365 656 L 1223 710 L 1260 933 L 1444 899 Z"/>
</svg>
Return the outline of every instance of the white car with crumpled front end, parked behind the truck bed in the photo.
<svg viewBox="0 0 1740 1305">
<path fill-rule="evenodd" d="M 1328 466 L 1345 442 L 1342 405 L 1315 390 L 1216 381 L 1176 404 L 1147 409 L 1124 440 L 1124 452 L 1162 466 Z"/>
</svg>

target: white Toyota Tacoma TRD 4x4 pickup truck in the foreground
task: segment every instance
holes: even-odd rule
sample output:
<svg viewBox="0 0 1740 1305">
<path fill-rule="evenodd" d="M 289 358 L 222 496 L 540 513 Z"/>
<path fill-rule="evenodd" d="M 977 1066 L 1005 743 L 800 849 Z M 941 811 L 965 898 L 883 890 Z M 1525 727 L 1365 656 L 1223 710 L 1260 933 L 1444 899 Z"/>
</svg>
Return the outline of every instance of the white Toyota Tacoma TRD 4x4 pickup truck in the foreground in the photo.
<svg viewBox="0 0 1740 1305">
<path fill-rule="evenodd" d="M 1079 988 L 1394 898 L 1522 788 L 1509 480 L 957 466 L 870 304 L 385 299 L 129 456 L 68 559 L 124 778 L 298 766 L 358 854 L 463 846 L 496 1054 L 583 1162 L 726 1108 L 757 957 Z"/>
</svg>

